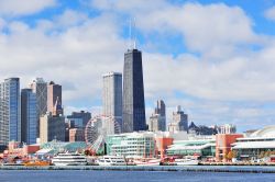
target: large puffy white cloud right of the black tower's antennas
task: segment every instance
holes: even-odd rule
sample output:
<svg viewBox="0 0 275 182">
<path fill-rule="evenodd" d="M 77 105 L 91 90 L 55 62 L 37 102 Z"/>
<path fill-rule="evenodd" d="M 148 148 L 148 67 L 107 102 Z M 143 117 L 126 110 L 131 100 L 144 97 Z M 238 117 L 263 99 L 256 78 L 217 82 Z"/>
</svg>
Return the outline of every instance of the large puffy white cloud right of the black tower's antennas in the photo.
<svg viewBox="0 0 275 182">
<path fill-rule="evenodd" d="M 205 57 L 229 57 L 239 46 L 258 42 L 252 21 L 238 7 L 186 3 L 135 15 L 140 29 L 178 32 L 189 50 L 202 53 Z"/>
</svg>

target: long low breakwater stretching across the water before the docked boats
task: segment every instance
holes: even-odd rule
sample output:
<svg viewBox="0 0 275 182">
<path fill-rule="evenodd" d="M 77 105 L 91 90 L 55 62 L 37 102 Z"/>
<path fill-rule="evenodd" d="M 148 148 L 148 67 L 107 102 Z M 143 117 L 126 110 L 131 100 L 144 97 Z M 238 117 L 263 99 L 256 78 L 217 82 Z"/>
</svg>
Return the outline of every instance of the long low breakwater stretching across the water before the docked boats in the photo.
<svg viewBox="0 0 275 182">
<path fill-rule="evenodd" d="M 1 166 L 0 170 L 116 170 L 116 171 L 193 171 L 193 172 L 242 172 L 242 173 L 275 173 L 275 167 L 235 167 L 235 166 L 47 166 L 47 167 L 24 167 L 24 166 Z"/>
</svg>

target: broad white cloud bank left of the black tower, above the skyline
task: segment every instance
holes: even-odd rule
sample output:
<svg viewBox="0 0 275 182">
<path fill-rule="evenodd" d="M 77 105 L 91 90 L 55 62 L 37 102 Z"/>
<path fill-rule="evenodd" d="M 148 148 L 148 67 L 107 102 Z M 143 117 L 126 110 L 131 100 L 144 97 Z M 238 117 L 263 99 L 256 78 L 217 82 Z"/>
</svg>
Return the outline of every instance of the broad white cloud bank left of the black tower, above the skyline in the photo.
<svg viewBox="0 0 275 182">
<path fill-rule="evenodd" d="M 62 31 L 50 26 L 44 32 L 41 22 L 37 27 L 11 22 L 6 29 L 9 34 L 0 34 L 0 78 L 21 76 L 22 87 L 34 77 L 70 84 L 73 89 L 64 86 L 65 103 L 100 100 L 101 75 L 122 70 L 125 43 L 109 15 L 63 26 Z"/>
</svg>

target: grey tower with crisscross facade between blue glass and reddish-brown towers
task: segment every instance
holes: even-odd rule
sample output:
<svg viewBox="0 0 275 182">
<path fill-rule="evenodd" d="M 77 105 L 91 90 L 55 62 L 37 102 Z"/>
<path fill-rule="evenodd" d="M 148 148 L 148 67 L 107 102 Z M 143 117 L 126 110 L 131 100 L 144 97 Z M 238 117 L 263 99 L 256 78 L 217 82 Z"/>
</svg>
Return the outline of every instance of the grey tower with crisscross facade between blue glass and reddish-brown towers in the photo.
<svg viewBox="0 0 275 182">
<path fill-rule="evenodd" d="M 43 78 L 36 78 L 30 84 L 30 88 L 36 95 L 36 128 L 37 137 L 40 136 L 40 117 L 46 114 L 47 112 L 47 83 Z"/>
</svg>

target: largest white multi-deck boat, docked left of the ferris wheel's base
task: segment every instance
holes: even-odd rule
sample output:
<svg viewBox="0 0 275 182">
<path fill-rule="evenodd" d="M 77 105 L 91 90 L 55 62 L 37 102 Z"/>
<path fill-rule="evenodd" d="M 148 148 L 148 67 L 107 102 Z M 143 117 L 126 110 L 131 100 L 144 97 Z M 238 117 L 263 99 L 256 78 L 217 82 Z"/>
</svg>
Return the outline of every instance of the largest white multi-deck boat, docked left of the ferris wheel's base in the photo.
<svg viewBox="0 0 275 182">
<path fill-rule="evenodd" d="M 59 153 L 52 159 L 55 166 L 86 166 L 87 159 L 79 153 Z"/>
</svg>

